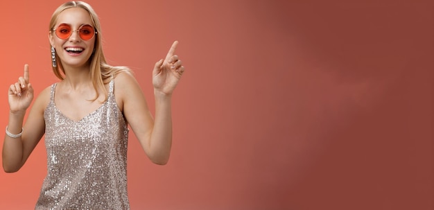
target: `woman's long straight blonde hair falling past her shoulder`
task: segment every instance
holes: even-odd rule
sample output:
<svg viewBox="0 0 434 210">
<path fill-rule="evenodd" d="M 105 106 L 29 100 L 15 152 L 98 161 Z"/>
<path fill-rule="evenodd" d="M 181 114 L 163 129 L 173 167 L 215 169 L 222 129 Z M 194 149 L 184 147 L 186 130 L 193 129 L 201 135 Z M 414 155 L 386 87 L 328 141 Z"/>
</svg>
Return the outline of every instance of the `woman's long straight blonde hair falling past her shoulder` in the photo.
<svg viewBox="0 0 434 210">
<path fill-rule="evenodd" d="M 102 40 L 102 33 L 101 33 L 101 25 L 98 19 L 98 15 L 96 15 L 96 12 L 92 8 L 92 6 L 89 5 L 89 3 L 85 3 L 84 1 L 68 1 L 66 3 L 63 3 L 61 6 L 59 6 L 51 16 L 51 21 L 49 25 L 49 31 L 53 33 L 53 28 L 56 24 L 56 21 L 58 19 L 58 15 L 63 10 L 69 9 L 69 8 L 83 8 L 87 12 L 89 12 L 90 18 L 92 20 L 92 24 L 94 25 L 94 28 L 98 33 L 95 35 L 95 45 L 94 45 L 94 53 L 92 53 L 90 60 L 90 73 L 92 78 L 92 85 L 94 86 L 94 89 L 96 91 L 96 97 L 92 100 L 96 100 L 99 96 L 98 89 L 103 90 L 103 93 L 105 94 L 105 100 L 107 100 L 108 92 L 107 89 L 105 89 L 104 85 L 110 82 L 110 78 L 117 73 L 120 73 L 121 71 L 130 71 L 128 67 L 114 67 L 105 61 L 105 56 L 103 53 L 103 47 L 101 46 L 101 40 Z M 58 62 L 57 67 L 53 67 L 53 72 L 56 77 L 58 77 L 60 80 L 64 80 L 65 72 L 62 67 L 62 62 L 58 55 L 55 55 L 55 58 Z"/>
</svg>

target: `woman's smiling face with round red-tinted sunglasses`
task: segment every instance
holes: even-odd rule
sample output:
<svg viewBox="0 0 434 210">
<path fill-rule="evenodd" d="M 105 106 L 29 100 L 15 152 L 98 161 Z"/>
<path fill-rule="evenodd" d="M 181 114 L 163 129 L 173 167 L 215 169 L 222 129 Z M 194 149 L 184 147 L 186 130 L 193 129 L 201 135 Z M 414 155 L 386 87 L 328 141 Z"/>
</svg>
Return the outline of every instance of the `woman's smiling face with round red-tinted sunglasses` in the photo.
<svg viewBox="0 0 434 210">
<path fill-rule="evenodd" d="M 96 34 L 87 10 L 69 8 L 58 15 L 55 31 L 49 33 L 51 46 L 54 46 L 62 66 L 85 67 L 94 51 Z"/>
</svg>

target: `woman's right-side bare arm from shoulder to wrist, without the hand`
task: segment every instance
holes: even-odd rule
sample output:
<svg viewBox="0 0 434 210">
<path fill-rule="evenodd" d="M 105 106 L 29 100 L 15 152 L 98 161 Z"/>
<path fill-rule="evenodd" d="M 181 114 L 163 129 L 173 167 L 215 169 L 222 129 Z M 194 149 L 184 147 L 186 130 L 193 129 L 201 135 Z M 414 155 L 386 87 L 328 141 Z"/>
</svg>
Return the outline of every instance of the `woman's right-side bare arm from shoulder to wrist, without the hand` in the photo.
<svg viewBox="0 0 434 210">
<path fill-rule="evenodd" d="M 155 164 L 166 164 L 172 143 L 171 96 L 155 98 L 154 121 L 144 94 L 131 73 L 119 73 L 114 90 L 116 100 L 122 100 L 123 115 L 146 155 Z"/>
</svg>

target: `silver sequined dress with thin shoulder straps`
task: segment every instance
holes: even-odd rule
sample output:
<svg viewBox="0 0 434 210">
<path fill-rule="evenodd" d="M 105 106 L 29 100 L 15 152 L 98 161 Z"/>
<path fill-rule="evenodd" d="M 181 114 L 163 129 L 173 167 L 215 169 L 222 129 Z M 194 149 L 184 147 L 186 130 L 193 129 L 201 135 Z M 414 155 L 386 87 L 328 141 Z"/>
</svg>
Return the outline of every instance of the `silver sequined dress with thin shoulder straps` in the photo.
<svg viewBox="0 0 434 210">
<path fill-rule="evenodd" d="M 80 121 L 55 107 L 56 84 L 44 110 L 47 175 L 35 209 L 130 209 L 127 195 L 128 128 L 109 96 Z"/>
</svg>

